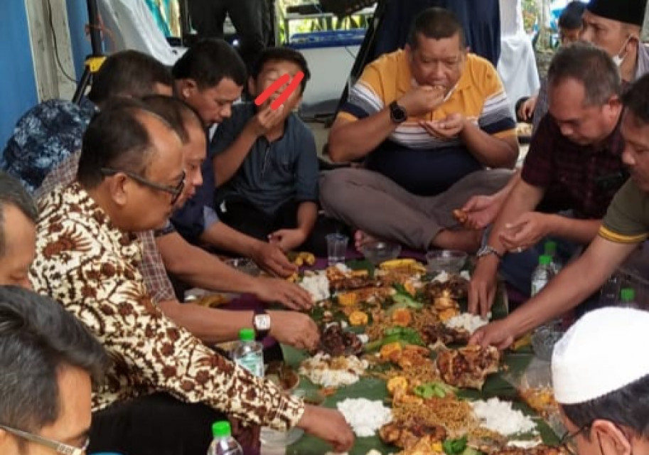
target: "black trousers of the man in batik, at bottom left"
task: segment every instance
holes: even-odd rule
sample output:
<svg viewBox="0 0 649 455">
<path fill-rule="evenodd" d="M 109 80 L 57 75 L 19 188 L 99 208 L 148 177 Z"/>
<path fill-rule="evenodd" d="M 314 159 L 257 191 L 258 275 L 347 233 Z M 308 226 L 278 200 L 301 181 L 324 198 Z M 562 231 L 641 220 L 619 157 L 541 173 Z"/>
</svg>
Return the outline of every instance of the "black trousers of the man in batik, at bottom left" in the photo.
<svg viewBox="0 0 649 455">
<path fill-rule="evenodd" d="M 211 427 L 224 414 L 188 404 L 166 393 L 122 402 L 92 414 L 87 453 L 122 455 L 205 455 Z"/>
</svg>

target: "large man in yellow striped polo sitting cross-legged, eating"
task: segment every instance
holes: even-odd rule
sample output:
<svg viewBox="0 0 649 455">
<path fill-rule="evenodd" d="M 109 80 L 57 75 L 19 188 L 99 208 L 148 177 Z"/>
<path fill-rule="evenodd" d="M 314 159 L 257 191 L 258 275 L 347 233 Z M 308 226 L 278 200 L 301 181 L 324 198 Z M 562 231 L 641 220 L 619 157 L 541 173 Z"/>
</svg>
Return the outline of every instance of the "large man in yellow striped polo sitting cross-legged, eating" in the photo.
<svg viewBox="0 0 649 455">
<path fill-rule="evenodd" d="M 475 250 L 479 232 L 451 230 L 473 194 L 505 186 L 518 156 L 498 73 L 468 53 L 450 11 L 422 11 L 404 50 L 365 68 L 331 127 L 333 161 L 363 168 L 321 178 L 328 215 L 409 247 Z"/>
</svg>

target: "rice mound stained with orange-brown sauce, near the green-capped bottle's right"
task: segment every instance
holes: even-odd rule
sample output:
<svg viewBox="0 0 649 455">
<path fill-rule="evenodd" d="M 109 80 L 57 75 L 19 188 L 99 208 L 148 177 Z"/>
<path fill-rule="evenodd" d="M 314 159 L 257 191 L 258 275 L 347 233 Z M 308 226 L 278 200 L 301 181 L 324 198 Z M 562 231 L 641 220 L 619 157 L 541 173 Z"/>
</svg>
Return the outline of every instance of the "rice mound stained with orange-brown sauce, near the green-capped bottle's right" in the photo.
<svg viewBox="0 0 649 455">
<path fill-rule="evenodd" d="M 327 354 L 316 354 L 301 363 L 298 373 L 306 376 L 314 384 L 323 387 L 340 387 L 358 382 L 368 368 L 367 360 L 360 360 L 355 355 L 331 357 Z"/>
</svg>

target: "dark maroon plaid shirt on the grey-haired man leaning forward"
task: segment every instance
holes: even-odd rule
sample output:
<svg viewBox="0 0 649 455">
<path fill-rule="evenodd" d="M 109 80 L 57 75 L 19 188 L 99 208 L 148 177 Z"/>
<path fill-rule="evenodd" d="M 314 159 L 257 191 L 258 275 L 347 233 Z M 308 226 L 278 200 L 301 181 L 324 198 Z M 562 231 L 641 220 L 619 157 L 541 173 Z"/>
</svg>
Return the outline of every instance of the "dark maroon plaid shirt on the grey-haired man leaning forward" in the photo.
<svg viewBox="0 0 649 455">
<path fill-rule="evenodd" d="M 561 134 L 552 116 L 542 119 L 521 173 L 523 181 L 545 189 L 538 210 L 572 210 L 575 218 L 604 218 L 613 195 L 624 183 L 624 178 L 618 177 L 624 172 L 620 124 L 596 147 L 574 144 Z"/>
</svg>

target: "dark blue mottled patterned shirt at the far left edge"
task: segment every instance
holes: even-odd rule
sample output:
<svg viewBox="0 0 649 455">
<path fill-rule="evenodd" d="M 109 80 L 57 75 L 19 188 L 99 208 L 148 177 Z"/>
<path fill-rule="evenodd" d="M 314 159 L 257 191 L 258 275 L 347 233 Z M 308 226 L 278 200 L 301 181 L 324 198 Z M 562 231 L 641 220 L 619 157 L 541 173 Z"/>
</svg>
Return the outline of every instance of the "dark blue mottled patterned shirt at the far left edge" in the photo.
<svg viewBox="0 0 649 455">
<path fill-rule="evenodd" d="M 81 149 L 81 138 L 95 112 L 97 107 L 86 98 L 79 105 L 48 100 L 32 107 L 16 123 L 0 168 L 28 191 L 35 191 L 52 168 Z"/>
</svg>

